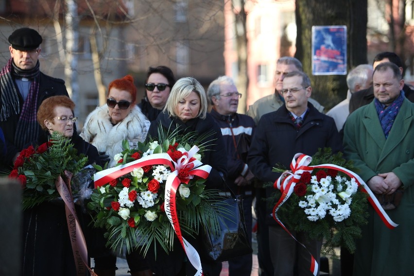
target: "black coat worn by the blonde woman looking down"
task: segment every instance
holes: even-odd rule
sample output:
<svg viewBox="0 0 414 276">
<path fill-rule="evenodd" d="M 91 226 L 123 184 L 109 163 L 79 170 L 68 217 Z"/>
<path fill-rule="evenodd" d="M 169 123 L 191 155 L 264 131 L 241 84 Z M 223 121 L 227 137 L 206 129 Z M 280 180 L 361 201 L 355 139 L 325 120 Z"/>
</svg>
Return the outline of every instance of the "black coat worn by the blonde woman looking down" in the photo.
<svg viewBox="0 0 414 276">
<path fill-rule="evenodd" d="M 172 124 L 173 123 L 173 124 Z M 155 121 L 151 122 L 150 129 L 148 131 L 147 140 L 149 137 L 158 137 L 158 125 L 161 124 L 165 130 L 170 128 L 170 125 L 178 127 L 183 132 L 196 131 L 200 135 L 206 134 L 209 131 L 213 131 L 213 135 L 208 137 L 207 140 L 213 139 L 201 160 L 203 164 L 211 166 L 211 172 L 207 177 L 205 185 L 209 189 L 223 189 L 224 183 L 220 173 L 224 178 L 227 176 L 227 155 L 224 145 L 222 132 L 216 121 L 207 113 L 206 119 L 194 118 L 186 123 L 179 119 L 173 119 L 166 113 L 160 113 Z M 188 141 L 191 145 L 192 141 Z"/>
</svg>

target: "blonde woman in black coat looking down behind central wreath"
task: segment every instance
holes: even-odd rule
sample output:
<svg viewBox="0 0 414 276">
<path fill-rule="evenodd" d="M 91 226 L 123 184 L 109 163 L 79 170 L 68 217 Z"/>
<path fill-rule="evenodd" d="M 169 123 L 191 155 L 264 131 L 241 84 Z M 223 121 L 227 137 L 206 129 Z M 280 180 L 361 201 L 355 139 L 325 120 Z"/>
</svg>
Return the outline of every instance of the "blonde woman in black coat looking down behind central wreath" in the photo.
<svg viewBox="0 0 414 276">
<path fill-rule="evenodd" d="M 200 143 L 207 143 L 207 148 L 203 152 L 201 162 L 211 166 L 211 171 L 204 183 L 206 189 L 224 188 L 224 178 L 227 175 L 227 155 L 224 139 L 217 122 L 207 113 L 207 97 L 203 86 L 191 77 L 179 79 L 171 89 L 170 97 L 165 108 L 160 113 L 156 121 L 151 122 L 148 138 L 158 137 L 158 128 L 163 128 L 166 132 L 173 128 L 178 128 L 182 134 L 196 132 L 201 137 L 207 133 L 211 136 L 205 138 Z M 191 143 L 191 141 L 188 141 Z M 201 248 L 201 239 L 197 237 L 186 237 L 186 240 L 195 247 L 198 252 Z M 156 260 L 152 259 L 152 252 L 147 254 L 151 263 L 151 268 L 155 275 L 177 276 L 194 275 L 196 270 L 191 263 L 185 260 L 185 254 L 181 244 L 174 242 L 173 252 L 167 255 L 162 249 L 157 249 Z M 221 263 L 211 261 L 201 256 L 204 275 L 219 276 Z"/>
</svg>

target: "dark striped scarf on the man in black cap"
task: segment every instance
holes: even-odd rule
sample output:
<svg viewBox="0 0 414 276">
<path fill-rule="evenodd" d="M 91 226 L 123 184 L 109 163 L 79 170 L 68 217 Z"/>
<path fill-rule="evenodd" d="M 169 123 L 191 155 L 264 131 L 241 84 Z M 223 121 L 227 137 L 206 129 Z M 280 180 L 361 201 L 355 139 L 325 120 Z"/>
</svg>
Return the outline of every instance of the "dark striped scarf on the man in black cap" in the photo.
<svg viewBox="0 0 414 276">
<path fill-rule="evenodd" d="M 20 112 L 19 91 L 13 81 L 13 77 L 31 79 L 29 95 L 23 103 L 17 129 L 15 134 L 15 145 L 21 149 L 29 142 L 35 140 L 39 131 L 39 124 L 36 120 L 37 95 L 39 94 L 39 61 L 35 68 L 23 70 L 18 68 L 10 58 L 7 65 L 0 72 L 1 110 L 0 121 L 7 121 L 11 115 L 18 115 Z"/>
</svg>

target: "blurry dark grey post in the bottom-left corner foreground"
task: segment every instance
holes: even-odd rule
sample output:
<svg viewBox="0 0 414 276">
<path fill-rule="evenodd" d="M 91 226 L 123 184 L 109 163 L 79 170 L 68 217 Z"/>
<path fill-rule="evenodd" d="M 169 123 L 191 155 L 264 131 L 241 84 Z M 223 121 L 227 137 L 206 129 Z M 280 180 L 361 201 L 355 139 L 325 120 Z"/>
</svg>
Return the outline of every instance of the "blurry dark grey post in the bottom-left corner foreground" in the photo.
<svg viewBox="0 0 414 276">
<path fill-rule="evenodd" d="M 0 275 L 20 275 L 22 214 L 20 183 L 0 177 Z"/>
</svg>

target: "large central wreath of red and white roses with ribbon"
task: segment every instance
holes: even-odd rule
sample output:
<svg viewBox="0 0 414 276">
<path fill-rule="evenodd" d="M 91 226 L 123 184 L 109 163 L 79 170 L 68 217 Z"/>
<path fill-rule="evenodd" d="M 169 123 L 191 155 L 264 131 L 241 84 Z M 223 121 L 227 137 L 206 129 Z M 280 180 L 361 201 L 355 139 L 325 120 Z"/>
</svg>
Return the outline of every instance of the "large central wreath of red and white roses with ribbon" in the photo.
<svg viewBox="0 0 414 276">
<path fill-rule="evenodd" d="M 199 145 L 201 155 L 189 140 Z M 87 206 L 96 212 L 95 226 L 106 227 L 108 246 L 121 251 L 126 245 L 127 252 L 141 247 L 145 255 L 158 244 L 168 253 L 175 236 L 184 247 L 181 232 L 194 236 L 207 224 L 219 231 L 220 205 L 215 203 L 222 197 L 205 190 L 211 167 L 200 162 L 204 146 L 195 133 L 160 135 L 159 141 L 139 142 L 134 149 L 123 141 L 124 150 L 114 157 L 117 166 L 99 172 L 103 177 L 95 178 L 98 187 Z"/>
</svg>

